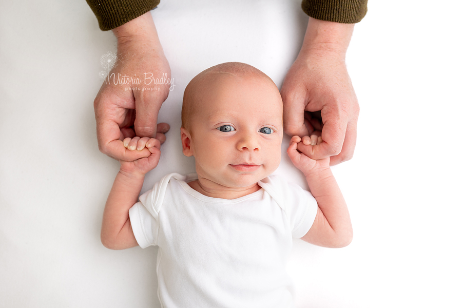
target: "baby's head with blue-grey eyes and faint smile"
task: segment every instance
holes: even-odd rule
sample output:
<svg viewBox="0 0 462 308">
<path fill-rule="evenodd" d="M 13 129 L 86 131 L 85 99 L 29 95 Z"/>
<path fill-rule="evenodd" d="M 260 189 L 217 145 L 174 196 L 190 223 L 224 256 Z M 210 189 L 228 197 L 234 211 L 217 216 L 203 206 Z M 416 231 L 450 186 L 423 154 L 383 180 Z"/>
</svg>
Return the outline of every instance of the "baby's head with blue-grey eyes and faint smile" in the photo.
<svg viewBox="0 0 462 308">
<path fill-rule="evenodd" d="M 253 66 L 230 62 L 199 73 L 184 92 L 181 121 L 183 153 L 195 157 L 199 179 L 244 188 L 279 166 L 281 95 Z"/>
</svg>

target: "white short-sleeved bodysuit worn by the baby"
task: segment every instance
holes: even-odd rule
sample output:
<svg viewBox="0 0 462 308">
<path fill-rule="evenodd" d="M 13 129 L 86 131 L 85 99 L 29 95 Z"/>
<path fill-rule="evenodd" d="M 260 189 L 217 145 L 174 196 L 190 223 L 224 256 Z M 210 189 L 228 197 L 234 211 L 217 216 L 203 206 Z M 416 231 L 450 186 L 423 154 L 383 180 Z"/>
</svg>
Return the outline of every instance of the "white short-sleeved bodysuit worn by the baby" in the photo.
<svg viewBox="0 0 462 308">
<path fill-rule="evenodd" d="M 293 308 L 286 263 L 293 237 L 315 220 L 310 192 L 269 176 L 262 189 L 226 200 L 200 194 L 193 180 L 166 175 L 130 208 L 138 244 L 159 246 L 162 307 Z"/>
</svg>

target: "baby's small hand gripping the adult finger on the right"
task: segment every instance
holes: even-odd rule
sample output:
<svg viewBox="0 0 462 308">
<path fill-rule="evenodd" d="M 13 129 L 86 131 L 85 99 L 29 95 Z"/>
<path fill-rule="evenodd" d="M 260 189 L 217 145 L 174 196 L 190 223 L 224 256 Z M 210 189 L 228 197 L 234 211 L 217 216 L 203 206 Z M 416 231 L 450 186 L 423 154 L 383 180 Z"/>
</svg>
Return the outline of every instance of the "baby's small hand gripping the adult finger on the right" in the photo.
<svg viewBox="0 0 462 308">
<path fill-rule="evenodd" d="M 319 135 L 316 134 L 315 131 L 315 133 L 311 136 L 304 136 L 303 138 L 293 136 L 291 143 L 287 148 L 287 155 L 290 157 L 292 163 L 300 171 L 302 171 L 305 176 L 317 169 L 329 168 L 329 157 L 320 160 L 314 160 L 306 156 L 303 152 L 297 150 L 297 146 L 300 142 L 305 146 L 309 146 L 309 150 L 312 150 L 314 145 L 322 142 L 322 138 Z"/>
</svg>

